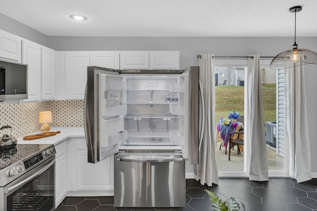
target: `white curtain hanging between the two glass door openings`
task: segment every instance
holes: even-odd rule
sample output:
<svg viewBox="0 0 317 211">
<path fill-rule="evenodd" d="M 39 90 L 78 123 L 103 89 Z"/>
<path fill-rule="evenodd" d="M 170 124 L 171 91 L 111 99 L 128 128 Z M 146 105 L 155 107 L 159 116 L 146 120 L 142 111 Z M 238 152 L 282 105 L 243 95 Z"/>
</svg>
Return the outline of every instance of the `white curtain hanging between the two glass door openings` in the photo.
<svg viewBox="0 0 317 211">
<path fill-rule="evenodd" d="M 245 134 L 249 145 L 249 179 L 255 181 L 268 180 L 266 141 L 264 132 L 264 114 L 262 84 L 260 74 L 260 55 L 249 55 L 248 83 L 246 87 L 247 101 L 245 116 Z"/>
</svg>

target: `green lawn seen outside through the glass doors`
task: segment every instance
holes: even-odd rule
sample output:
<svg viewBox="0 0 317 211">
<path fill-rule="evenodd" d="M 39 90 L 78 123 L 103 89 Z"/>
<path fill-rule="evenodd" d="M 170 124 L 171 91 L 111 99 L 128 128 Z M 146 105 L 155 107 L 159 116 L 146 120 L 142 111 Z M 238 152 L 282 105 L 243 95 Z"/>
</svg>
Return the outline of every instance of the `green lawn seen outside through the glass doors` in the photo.
<svg viewBox="0 0 317 211">
<path fill-rule="evenodd" d="M 276 85 L 263 84 L 264 123 L 276 119 Z M 228 117 L 232 110 L 244 115 L 244 86 L 215 86 L 215 122 Z"/>
</svg>

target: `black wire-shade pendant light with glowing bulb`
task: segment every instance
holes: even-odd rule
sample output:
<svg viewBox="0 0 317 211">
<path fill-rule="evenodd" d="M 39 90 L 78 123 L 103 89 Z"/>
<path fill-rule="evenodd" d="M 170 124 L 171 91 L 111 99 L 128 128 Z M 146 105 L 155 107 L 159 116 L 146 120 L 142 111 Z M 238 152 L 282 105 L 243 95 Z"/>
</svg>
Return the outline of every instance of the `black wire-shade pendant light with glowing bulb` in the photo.
<svg viewBox="0 0 317 211">
<path fill-rule="evenodd" d="M 302 6 L 293 6 L 289 8 L 289 12 L 295 13 L 295 42 L 293 44 L 293 49 L 286 50 L 279 53 L 274 57 L 271 64 L 269 65 L 272 70 L 280 70 L 291 67 L 296 67 L 304 64 L 317 64 L 317 53 L 305 49 L 297 48 L 296 43 L 296 12 L 302 10 Z"/>
</svg>

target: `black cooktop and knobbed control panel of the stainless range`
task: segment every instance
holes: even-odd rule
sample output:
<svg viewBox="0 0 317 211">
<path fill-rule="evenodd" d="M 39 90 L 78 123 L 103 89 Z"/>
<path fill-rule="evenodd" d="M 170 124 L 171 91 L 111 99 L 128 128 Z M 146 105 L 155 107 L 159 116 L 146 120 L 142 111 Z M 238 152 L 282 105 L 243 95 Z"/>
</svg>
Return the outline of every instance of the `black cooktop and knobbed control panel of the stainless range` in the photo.
<svg viewBox="0 0 317 211">
<path fill-rule="evenodd" d="M 17 144 L 0 150 L 0 187 L 36 168 L 56 154 L 54 145 Z"/>
</svg>

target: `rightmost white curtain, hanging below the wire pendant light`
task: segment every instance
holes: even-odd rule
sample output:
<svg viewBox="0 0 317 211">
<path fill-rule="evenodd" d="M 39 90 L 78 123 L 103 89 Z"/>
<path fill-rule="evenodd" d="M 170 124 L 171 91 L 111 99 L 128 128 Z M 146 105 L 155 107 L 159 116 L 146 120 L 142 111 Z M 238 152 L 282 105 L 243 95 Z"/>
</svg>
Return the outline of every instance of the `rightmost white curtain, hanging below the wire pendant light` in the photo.
<svg viewBox="0 0 317 211">
<path fill-rule="evenodd" d="M 312 179 L 304 66 L 285 69 L 285 140 L 290 143 L 292 178 Z"/>
</svg>

